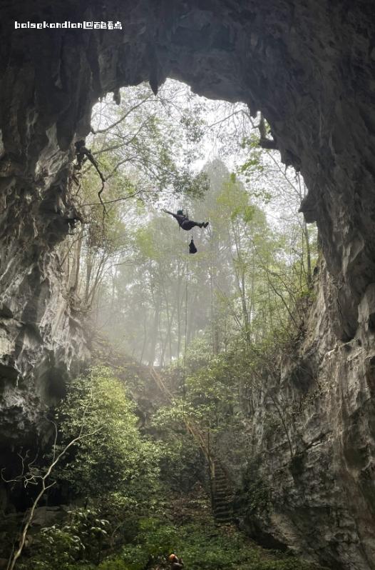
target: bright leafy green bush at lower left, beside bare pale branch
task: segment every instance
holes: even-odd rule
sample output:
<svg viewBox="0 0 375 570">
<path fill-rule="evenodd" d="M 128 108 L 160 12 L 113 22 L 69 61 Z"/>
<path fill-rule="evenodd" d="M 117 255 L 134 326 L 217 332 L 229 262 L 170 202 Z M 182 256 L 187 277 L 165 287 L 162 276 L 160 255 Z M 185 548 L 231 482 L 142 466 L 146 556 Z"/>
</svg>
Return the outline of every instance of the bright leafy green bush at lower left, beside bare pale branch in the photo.
<svg viewBox="0 0 375 570">
<path fill-rule="evenodd" d="M 96 367 L 71 381 L 57 419 L 61 444 L 83 436 L 58 470 L 58 479 L 68 481 L 73 492 L 95 497 L 116 489 L 133 506 L 150 499 L 160 451 L 140 436 L 134 404 L 111 369 Z"/>
</svg>

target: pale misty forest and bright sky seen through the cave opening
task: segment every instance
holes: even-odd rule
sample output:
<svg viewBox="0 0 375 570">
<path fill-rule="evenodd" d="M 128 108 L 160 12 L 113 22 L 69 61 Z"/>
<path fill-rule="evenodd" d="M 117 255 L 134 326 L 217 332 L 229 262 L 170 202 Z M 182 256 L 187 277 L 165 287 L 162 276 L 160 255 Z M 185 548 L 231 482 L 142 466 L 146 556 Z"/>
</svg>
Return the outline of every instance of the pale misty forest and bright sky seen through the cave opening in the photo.
<svg viewBox="0 0 375 570">
<path fill-rule="evenodd" d="M 164 366 L 194 343 L 218 354 L 297 323 L 316 231 L 298 214 L 302 176 L 259 146 L 262 120 L 171 80 L 157 96 L 142 84 L 96 105 L 86 144 L 106 184 L 99 200 L 98 172 L 83 166 L 83 224 L 64 254 L 103 342 Z M 209 225 L 184 231 L 163 208 Z"/>
</svg>

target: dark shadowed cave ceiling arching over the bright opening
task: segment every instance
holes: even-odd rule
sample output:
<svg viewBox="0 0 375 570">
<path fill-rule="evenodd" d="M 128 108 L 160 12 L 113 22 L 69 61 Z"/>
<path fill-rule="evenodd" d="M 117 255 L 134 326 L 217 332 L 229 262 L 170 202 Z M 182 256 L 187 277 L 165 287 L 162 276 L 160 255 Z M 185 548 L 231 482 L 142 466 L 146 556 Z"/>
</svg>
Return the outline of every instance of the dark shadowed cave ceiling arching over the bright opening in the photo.
<svg viewBox="0 0 375 570">
<path fill-rule="evenodd" d="M 73 139 L 88 134 L 93 103 L 120 86 L 150 81 L 157 89 L 170 77 L 203 96 L 243 101 L 253 114 L 262 111 L 282 160 L 307 182 L 302 211 L 317 221 L 334 277 L 327 298 L 337 335 L 351 339 L 375 271 L 371 14 L 366 1 L 110 0 L 90 8 L 58 1 L 49 9 L 39 0 L 22 13 L 9 3 L 1 43 L 3 174 L 34 184 L 38 164 L 45 186 L 56 190 Z M 96 19 L 123 29 L 13 27 Z"/>
</svg>

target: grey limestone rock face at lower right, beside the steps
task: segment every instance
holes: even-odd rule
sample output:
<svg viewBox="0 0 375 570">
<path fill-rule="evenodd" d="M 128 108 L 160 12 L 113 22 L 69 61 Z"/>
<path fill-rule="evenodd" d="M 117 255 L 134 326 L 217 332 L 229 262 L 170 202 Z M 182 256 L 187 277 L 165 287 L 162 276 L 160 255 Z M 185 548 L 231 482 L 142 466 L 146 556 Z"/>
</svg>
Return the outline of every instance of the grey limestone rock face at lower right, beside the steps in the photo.
<svg viewBox="0 0 375 570">
<path fill-rule="evenodd" d="M 307 334 L 252 395 L 237 506 L 265 544 L 334 569 L 368 570 L 375 568 L 373 291 L 361 303 L 354 339 L 338 341 L 330 279 L 322 264 Z"/>
</svg>

